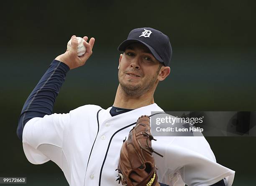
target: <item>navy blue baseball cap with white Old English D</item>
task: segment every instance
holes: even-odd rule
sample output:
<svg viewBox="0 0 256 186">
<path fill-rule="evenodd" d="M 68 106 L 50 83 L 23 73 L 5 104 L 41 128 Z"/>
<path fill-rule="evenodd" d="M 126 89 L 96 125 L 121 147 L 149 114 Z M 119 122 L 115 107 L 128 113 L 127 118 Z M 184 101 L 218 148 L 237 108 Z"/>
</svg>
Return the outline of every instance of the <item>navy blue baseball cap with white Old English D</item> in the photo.
<svg viewBox="0 0 256 186">
<path fill-rule="evenodd" d="M 127 40 L 118 46 L 119 51 L 124 51 L 131 43 L 142 43 L 154 57 L 165 66 L 169 66 L 172 58 L 172 46 L 167 35 L 154 28 L 136 28 L 131 30 Z"/>
</svg>

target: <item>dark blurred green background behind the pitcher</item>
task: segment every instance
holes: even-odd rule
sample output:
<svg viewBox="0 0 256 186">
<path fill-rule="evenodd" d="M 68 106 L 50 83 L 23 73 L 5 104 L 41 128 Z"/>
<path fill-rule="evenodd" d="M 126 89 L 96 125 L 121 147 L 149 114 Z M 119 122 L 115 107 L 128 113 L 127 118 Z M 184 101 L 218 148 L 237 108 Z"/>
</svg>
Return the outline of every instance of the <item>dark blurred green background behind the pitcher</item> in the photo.
<svg viewBox="0 0 256 186">
<path fill-rule="evenodd" d="M 69 71 L 54 112 L 84 104 L 112 106 L 118 86 L 118 45 L 133 28 L 169 36 L 171 74 L 155 101 L 165 111 L 256 111 L 256 2 L 8 1 L 0 25 L 0 177 L 27 185 L 68 185 L 54 163 L 33 165 L 16 136 L 29 93 L 71 35 L 95 37 L 93 55 Z M 256 137 L 207 137 L 217 162 L 236 171 L 233 186 L 255 185 Z M 210 168 L 210 167 L 209 167 Z"/>
</svg>

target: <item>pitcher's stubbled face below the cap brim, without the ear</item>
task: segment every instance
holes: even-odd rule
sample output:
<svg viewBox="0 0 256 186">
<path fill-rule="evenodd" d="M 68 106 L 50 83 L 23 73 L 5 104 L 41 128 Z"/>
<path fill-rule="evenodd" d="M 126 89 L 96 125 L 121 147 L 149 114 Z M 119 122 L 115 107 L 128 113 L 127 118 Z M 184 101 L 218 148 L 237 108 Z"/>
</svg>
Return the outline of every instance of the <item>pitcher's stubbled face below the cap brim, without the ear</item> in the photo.
<svg viewBox="0 0 256 186">
<path fill-rule="evenodd" d="M 141 43 L 129 45 L 120 55 L 119 64 L 119 83 L 127 95 L 142 96 L 156 88 L 160 62 L 146 46 Z"/>
</svg>

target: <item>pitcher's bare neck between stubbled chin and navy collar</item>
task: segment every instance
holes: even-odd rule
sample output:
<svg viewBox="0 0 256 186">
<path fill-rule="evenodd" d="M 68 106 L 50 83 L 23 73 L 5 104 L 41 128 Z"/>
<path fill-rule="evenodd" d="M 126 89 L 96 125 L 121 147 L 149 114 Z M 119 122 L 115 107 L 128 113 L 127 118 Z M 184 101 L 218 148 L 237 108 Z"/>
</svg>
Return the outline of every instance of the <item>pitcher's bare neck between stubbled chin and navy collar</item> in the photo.
<svg viewBox="0 0 256 186">
<path fill-rule="evenodd" d="M 148 91 L 147 93 L 143 94 L 142 96 L 128 96 L 123 89 L 121 88 L 120 84 L 118 85 L 118 90 L 115 95 L 115 101 L 113 106 L 118 108 L 126 108 L 126 109 L 136 109 L 141 108 L 143 106 L 151 105 L 154 102 L 154 93 Z"/>
</svg>

